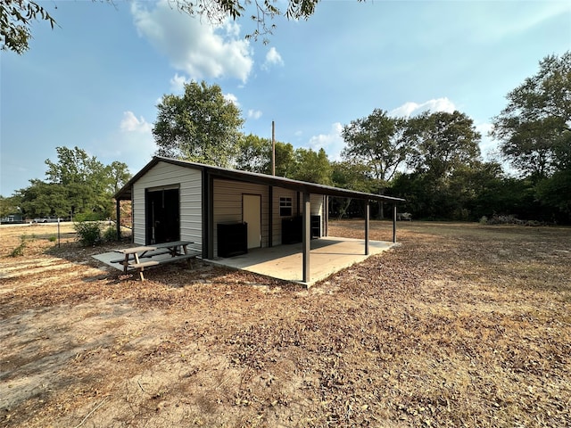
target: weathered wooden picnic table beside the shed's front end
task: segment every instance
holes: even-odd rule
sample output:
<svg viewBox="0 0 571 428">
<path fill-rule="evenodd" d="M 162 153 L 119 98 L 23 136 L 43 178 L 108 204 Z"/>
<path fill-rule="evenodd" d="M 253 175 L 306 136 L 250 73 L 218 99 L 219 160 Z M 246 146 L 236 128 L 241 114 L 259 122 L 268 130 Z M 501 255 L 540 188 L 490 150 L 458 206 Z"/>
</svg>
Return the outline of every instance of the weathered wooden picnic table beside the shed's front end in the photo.
<svg viewBox="0 0 571 428">
<path fill-rule="evenodd" d="M 192 241 L 173 241 L 170 243 L 155 243 L 153 245 L 123 248 L 115 250 L 115 252 L 119 252 L 124 257 L 122 259 L 112 260 L 112 263 L 120 263 L 123 265 L 123 272 L 125 272 L 125 274 L 127 274 L 129 268 L 137 269 L 141 280 L 144 281 L 145 276 L 143 276 L 143 270 L 145 270 L 145 268 L 196 257 L 200 251 L 189 252 L 187 249 L 187 246 L 192 243 Z M 158 259 L 158 256 L 164 254 L 170 254 L 170 259 Z M 141 259 L 149 260 L 141 261 Z"/>
</svg>

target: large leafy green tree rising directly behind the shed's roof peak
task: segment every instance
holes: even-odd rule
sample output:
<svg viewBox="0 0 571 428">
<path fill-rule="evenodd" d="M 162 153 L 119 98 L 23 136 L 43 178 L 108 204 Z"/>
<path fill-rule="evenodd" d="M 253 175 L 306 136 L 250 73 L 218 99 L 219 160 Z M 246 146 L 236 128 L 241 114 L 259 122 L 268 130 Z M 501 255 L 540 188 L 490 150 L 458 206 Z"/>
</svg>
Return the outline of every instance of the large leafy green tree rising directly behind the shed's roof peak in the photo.
<svg viewBox="0 0 571 428">
<path fill-rule="evenodd" d="M 183 95 L 164 95 L 157 109 L 153 136 L 158 155 L 228 167 L 244 119 L 220 86 L 187 83 Z"/>
</svg>

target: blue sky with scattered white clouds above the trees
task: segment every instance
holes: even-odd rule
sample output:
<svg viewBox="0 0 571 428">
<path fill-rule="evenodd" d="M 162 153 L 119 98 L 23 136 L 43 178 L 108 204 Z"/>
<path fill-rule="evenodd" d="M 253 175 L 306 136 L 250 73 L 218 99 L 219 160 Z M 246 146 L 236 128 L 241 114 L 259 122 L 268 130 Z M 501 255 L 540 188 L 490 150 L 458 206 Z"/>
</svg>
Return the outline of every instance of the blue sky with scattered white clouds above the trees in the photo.
<svg viewBox="0 0 571 428">
<path fill-rule="evenodd" d="M 78 146 L 136 173 L 156 147 L 156 104 L 182 84 L 218 84 L 244 132 L 335 161 L 340 131 L 374 109 L 463 111 L 484 138 L 510 90 L 571 49 L 571 2 L 322 0 L 309 21 L 277 19 L 269 45 L 248 20 L 213 27 L 166 1 L 50 0 L 29 52 L 0 53 L 0 194 L 45 179 L 55 148 Z M 283 4 L 278 2 L 278 4 Z"/>
</svg>

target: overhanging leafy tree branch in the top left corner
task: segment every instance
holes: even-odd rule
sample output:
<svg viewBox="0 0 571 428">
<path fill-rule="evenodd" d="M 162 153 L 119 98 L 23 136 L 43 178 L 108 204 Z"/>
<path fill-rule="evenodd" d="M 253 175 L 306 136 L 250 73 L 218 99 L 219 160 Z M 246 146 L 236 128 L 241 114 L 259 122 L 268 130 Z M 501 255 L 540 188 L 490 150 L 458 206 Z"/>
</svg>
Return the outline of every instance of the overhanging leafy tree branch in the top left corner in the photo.
<svg viewBox="0 0 571 428">
<path fill-rule="evenodd" d="M 55 20 L 33 0 L 3 0 L 0 3 L 0 48 L 24 53 L 29 48 L 32 21 L 47 21 L 54 29 Z"/>
</svg>

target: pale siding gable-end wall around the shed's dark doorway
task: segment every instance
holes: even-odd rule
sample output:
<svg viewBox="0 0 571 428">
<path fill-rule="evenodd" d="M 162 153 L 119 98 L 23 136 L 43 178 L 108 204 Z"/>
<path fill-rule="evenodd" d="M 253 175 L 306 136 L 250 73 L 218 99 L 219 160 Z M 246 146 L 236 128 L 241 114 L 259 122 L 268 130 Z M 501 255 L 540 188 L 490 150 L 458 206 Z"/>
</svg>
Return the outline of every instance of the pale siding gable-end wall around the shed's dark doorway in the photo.
<svg viewBox="0 0 571 428">
<path fill-rule="evenodd" d="M 133 185 L 133 240 L 145 245 L 145 190 L 179 186 L 180 239 L 203 242 L 202 173 L 199 169 L 183 168 L 159 162 Z"/>
</svg>

